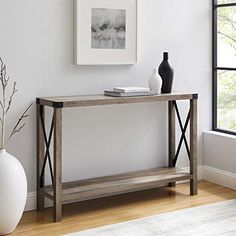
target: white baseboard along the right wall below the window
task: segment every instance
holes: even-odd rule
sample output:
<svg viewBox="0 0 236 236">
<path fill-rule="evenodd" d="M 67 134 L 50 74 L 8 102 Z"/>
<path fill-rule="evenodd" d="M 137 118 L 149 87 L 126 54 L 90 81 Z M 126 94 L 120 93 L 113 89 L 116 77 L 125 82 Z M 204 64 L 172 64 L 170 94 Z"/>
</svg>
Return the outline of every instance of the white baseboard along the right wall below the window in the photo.
<svg viewBox="0 0 236 236">
<path fill-rule="evenodd" d="M 236 174 L 204 165 L 203 179 L 236 190 Z"/>
</svg>

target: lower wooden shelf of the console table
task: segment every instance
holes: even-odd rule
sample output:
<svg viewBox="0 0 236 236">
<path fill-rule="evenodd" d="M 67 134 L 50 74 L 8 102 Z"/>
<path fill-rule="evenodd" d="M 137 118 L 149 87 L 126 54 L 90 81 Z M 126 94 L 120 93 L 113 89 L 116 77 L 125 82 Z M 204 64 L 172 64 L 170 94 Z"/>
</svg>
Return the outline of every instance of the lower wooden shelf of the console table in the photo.
<svg viewBox="0 0 236 236">
<path fill-rule="evenodd" d="M 128 192 L 152 189 L 170 182 L 192 179 L 193 176 L 180 168 L 156 168 L 89 180 L 64 183 L 63 204 L 107 197 Z M 45 196 L 53 199 L 52 186 L 44 188 Z"/>
</svg>

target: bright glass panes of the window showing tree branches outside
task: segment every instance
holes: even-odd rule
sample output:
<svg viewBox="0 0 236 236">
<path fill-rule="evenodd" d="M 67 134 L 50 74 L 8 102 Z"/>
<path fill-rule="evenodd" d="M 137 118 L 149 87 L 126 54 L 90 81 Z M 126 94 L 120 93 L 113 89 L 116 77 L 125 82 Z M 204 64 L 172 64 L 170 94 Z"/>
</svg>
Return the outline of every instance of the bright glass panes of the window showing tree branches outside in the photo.
<svg viewBox="0 0 236 236">
<path fill-rule="evenodd" d="M 236 6 L 217 8 L 217 68 L 217 128 L 236 132 Z"/>
</svg>

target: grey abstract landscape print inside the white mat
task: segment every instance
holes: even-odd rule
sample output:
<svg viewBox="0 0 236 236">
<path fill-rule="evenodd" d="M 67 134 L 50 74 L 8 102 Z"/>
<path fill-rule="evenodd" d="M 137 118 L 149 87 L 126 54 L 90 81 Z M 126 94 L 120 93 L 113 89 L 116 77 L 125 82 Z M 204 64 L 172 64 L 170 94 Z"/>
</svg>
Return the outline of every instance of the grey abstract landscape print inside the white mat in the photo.
<svg viewBox="0 0 236 236">
<path fill-rule="evenodd" d="M 92 8 L 91 48 L 125 49 L 126 10 Z"/>
</svg>

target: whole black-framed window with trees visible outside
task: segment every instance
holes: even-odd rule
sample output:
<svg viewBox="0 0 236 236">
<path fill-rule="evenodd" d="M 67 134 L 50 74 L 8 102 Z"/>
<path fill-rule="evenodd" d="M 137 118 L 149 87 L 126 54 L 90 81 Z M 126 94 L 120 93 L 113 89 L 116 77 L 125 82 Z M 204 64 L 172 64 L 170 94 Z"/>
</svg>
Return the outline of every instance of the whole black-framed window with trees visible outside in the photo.
<svg viewBox="0 0 236 236">
<path fill-rule="evenodd" d="M 213 0 L 213 129 L 236 134 L 236 0 Z"/>
</svg>

